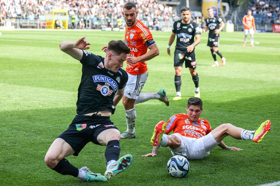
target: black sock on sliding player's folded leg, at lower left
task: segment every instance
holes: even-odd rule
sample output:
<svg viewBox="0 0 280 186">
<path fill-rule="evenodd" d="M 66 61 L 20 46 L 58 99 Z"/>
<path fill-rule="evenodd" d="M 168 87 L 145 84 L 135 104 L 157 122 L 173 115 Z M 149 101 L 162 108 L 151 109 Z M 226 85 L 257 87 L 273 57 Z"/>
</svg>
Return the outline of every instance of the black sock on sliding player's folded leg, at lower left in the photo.
<svg viewBox="0 0 280 186">
<path fill-rule="evenodd" d="M 73 166 L 69 161 L 65 158 L 60 160 L 58 164 L 52 170 L 57 171 L 62 175 L 71 175 L 77 177 L 79 175 L 79 169 Z"/>
</svg>

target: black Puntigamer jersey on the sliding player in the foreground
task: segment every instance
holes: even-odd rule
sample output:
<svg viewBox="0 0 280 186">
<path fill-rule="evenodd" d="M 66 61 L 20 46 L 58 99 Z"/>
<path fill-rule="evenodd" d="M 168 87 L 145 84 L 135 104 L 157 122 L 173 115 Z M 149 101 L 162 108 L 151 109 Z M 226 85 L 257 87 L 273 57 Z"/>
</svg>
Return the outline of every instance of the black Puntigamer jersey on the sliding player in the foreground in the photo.
<svg viewBox="0 0 280 186">
<path fill-rule="evenodd" d="M 80 60 L 82 78 L 78 88 L 77 114 L 109 110 L 114 114 L 113 99 L 116 91 L 122 89 L 128 80 L 125 70 L 110 72 L 104 67 L 104 58 L 83 51 Z"/>
</svg>

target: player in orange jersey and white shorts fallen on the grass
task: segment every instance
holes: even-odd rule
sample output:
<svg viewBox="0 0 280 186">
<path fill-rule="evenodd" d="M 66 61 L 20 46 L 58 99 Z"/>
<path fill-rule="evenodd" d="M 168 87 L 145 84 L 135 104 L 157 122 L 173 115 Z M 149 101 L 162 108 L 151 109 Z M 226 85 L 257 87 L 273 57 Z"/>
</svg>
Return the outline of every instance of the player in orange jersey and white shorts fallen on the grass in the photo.
<svg viewBox="0 0 280 186">
<path fill-rule="evenodd" d="M 271 126 L 271 122 L 266 120 L 253 131 L 244 130 L 230 123 L 221 124 L 212 130 L 206 119 L 199 118 L 203 110 L 201 99 L 190 98 L 186 110 L 187 114 L 175 114 L 167 123 L 161 121 L 155 126 L 151 138 L 153 151 L 142 157 L 156 156 L 160 146 L 169 147 L 173 156 L 182 155 L 187 159 L 203 159 L 217 145 L 223 149 L 241 151 L 242 149 L 226 146 L 222 142 L 223 138 L 230 135 L 235 139 L 253 140 L 259 143 Z M 167 134 L 172 130 L 174 134 L 168 136 Z"/>
</svg>

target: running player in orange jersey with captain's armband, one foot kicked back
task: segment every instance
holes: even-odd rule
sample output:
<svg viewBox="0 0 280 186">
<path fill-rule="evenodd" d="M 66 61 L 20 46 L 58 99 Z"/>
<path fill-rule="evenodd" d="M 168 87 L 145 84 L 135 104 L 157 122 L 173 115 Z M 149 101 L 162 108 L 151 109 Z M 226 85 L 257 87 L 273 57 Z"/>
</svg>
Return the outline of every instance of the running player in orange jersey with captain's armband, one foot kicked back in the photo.
<svg viewBox="0 0 280 186">
<path fill-rule="evenodd" d="M 158 99 L 169 105 L 169 100 L 164 89 L 151 94 L 140 94 L 148 78 L 148 68 L 145 61 L 159 55 L 159 49 L 149 29 L 138 19 L 136 5 L 132 2 L 123 7 L 125 27 L 125 43 L 131 49 L 127 56 L 126 72 L 128 74 L 127 85 L 124 89 L 123 105 L 127 118 L 127 130 L 121 134 L 121 138 L 135 138 L 136 111 L 134 105 L 151 99 Z M 147 49 L 149 48 L 149 52 Z M 102 48 L 106 51 L 106 46 Z M 116 106 L 116 105 L 115 105 Z"/>
</svg>

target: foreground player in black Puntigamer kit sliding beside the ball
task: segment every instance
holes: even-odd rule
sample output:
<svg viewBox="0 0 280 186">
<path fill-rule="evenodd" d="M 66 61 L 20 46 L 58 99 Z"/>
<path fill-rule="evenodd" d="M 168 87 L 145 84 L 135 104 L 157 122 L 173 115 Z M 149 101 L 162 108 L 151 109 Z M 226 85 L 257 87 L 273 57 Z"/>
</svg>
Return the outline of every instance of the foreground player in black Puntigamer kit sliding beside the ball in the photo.
<svg viewBox="0 0 280 186">
<path fill-rule="evenodd" d="M 115 106 L 121 97 L 128 76 L 121 69 L 123 62 L 130 53 L 130 48 L 123 41 L 110 41 L 105 58 L 90 52 L 90 45 L 85 37 L 72 41 L 63 41 L 60 49 L 82 66 L 81 83 L 78 88 L 77 115 L 69 128 L 60 134 L 52 143 L 45 156 L 45 163 L 51 169 L 62 175 L 72 175 L 85 181 L 106 181 L 121 171 L 126 170 L 131 162 L 131 155 L 120 155 L 120 132 L 110 121 Z M 92 173 L 87 167 L 78 169 L 69 163 L 65 157 L 78 153 L 92 142 L 97 145 L 107 145 L 105 158 L 107 170 L 105 177 Z"/>
</svg>

